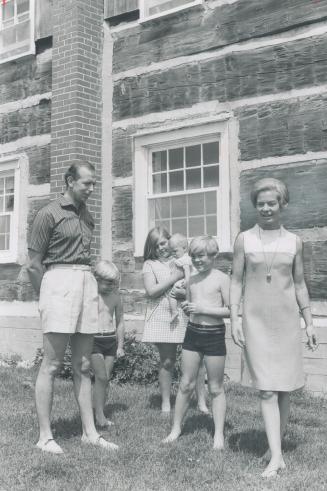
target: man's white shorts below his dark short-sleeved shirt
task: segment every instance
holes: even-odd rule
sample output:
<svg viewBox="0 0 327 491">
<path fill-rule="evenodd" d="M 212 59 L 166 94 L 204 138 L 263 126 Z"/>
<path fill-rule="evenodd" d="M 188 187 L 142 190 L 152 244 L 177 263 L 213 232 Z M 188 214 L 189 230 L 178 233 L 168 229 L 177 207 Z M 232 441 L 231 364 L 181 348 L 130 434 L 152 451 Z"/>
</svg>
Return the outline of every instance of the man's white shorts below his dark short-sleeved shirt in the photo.
<svg viewBox="0 0 327 491">
<path fill-rule="evenodd" d="M 50 266 L 41 283 L 39 311 L 44 334 L 98 332 L 98 287 L 90 267 Z"/>
</svg>

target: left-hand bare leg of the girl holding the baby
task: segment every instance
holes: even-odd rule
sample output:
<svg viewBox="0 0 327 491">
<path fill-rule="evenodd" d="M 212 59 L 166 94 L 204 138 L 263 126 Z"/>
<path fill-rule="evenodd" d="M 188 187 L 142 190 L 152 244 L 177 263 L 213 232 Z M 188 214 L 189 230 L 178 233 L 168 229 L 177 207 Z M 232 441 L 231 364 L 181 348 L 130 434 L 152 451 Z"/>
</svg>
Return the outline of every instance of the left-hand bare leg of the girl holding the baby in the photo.
<svg viewBox="0 0 327 491">
<path fill-rule="evenodd" d="M 159 385 L 162 397 L 161 411 L 163 413 L 169 413 L 172 372 L 176 361 L 177 344 L 158 343 L 156 346 L 160 356 Z"/>
</svg>

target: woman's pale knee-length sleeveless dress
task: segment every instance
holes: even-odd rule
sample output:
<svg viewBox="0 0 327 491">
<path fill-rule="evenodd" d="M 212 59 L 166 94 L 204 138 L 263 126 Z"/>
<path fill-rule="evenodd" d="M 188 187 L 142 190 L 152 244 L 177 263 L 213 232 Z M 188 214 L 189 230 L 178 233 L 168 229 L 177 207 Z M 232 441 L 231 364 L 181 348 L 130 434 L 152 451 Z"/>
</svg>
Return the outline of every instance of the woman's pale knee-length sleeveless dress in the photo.
<svg viewBox="0 0 327 491">
<path fill-rule="evenodd" d="M 245 336 L 243 383 L 259 390 L 292 391 L 304 385 L 302 331 L 293 281 L 296 235 L 263 245 L 259 226 L 243 233 Z M 271 279 L 267 281 L 267 266 Z"/>
</svg>

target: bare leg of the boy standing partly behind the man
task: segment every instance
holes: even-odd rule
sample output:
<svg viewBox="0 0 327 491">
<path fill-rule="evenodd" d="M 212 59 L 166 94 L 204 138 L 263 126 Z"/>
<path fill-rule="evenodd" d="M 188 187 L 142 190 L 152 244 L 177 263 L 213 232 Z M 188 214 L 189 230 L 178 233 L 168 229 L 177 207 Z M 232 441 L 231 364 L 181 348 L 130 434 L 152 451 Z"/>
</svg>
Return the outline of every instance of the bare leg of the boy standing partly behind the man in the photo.
<svg viewBox="0 0 327 491">
<path fill-rule="evenodd" d="M 107 426 L 107 419 L 103 411 L 107 398 L 108 377 L 103 355 L 100 353 L 92 354 L 91 364 L 95 378 L 93 387 L 95 422 L 100 426 Z"/>
</svg>

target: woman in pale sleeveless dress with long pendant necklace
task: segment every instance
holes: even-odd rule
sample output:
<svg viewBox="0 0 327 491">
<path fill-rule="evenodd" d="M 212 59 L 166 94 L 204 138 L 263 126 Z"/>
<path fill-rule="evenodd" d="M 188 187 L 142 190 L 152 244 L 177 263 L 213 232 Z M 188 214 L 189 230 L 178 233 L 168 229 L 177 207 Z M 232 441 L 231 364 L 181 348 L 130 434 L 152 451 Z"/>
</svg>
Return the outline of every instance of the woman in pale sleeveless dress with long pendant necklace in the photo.
<svg viewBox="0 0 327 491">
<path fill-rule="evenodd" d="M 244 348 L 252 385 L 259 389 L 270 449 L 263 477 L 285 468 L 281 438 L 289 415 L 289 393 L 304 385 L 299 309 L 308 347 L 317 347 L 308 290 L 304 282 L 302 241 L 281 225 L 289 201 L 285 184 L 261 179 L 251 192 L 257 224 L 240 233 L 234 247 L 231 328 Z M 243 323 L 238 310 L 243 291 Z M 268 452 L 269 453 L 269 452 Z"/>
</svg>

